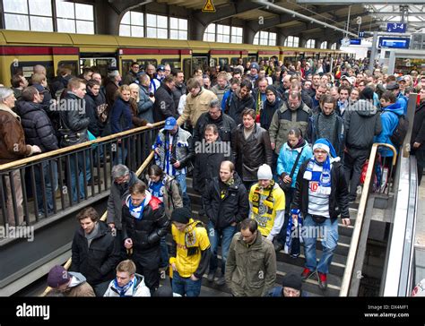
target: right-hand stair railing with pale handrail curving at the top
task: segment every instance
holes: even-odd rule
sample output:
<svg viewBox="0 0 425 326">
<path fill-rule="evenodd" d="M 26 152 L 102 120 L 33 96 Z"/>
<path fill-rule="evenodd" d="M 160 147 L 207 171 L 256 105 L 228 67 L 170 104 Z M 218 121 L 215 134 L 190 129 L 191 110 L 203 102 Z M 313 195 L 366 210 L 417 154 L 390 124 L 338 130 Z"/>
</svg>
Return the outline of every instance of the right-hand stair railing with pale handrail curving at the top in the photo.
<svg viewBox="0 0 425 326">
<path fill-rule="evenodd" d="M 340 296 L 352 295 L 351 287 L 354 287 L 353 280 L 358 281 L 360 278 L 360 275 L 358 273 L 359 270 L 358 268 L 356 268 L 356 266 L 358 266 L 360 263 L 358 260 L 358 256 L 360 252 L 363 251 L 362 249 L 365 248 L 365 244 L 366 244 L 366 240 L 368 236 L 367 233 L 369 232 L 369 222 L 370 222 L 371 216 L 370 214 L 367 214 L 367 207 L 368 207 L 368 202 L 370 199 L 370 193 L 373 190 L 373 184 L 375 182 L 379 147 L 386 147 L 389 150 L 393 151 L 393 157 L 391 159 L 391 167 L 395 166 L 395 163 L 397 160 L 397 152 L 394 146 L 389 144 L 384 144 L 384 143 L 373 144 L 372 150 L 369 156 L 369 165 L 368 165 L 368 170 L 366 173 L 365 182 L 363 185 L 363 191 L 360 197 L 360 204 L 359 204 L 359 209 L 357 213 L 357 218 L 356 218 L 356 222 L 355 222 L 354 229 L 351 236 L 350 251 L 347 256 L 347 263 L 345 265 L 345 270 L 343 273 L 343 281 L 341 284 Z M 391 177 L 390 177 L 392 176 L 392 168 L 390 170 L 391 172 L 388 173 L 388 184 L 390 182 L 391 184 L 394 184 L 391 181 Z M 387 188 L 389 192 L 390 187 L 388 186 Z M 367 230 L 365 230 L 364 228 L 367 228 Z M 364 251 L 363 253 L 361 253 L 361 255 L 364 257 Z M 360 270 L 360 274 L 361 274 L 361 270 Z"/>
</svg>

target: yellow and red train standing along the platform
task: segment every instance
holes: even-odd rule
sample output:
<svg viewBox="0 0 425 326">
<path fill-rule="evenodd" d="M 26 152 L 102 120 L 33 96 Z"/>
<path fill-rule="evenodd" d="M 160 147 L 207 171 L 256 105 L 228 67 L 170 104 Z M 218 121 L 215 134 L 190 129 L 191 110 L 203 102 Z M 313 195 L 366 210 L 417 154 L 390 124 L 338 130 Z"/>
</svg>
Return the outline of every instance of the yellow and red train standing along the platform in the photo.
<svg viewBox="0 0 425 326">
<path fill-rule="evenodd" d="M 106 76 L 110 66 L 117 66 L 120 73 L 126 74 L 133 61 L 143 67 L 169 64 L 183 70 L 188 78 L 195 68 L 235 65 L 239 58 L 247 63 L 277 56 L 283 62 L 295 63 L 303 57 L 341 56 L 341 53 L 343 51 L 195 40 L 0 30 L 0 82 L 10 86 L 15 73 L 30 77 L 35 64 L 46 66 L 48 80 L 55 77 L 60 66 L 70 68 L 74 75 L 91 66 L 96 66 L 102 76 Z"/>
</svg>

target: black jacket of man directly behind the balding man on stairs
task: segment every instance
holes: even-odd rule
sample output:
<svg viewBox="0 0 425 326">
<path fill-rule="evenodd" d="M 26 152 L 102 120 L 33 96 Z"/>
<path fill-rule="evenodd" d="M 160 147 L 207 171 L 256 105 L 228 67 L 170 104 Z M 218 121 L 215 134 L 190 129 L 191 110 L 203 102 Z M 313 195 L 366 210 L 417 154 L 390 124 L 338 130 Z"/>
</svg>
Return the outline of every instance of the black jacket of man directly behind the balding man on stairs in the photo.
<svg viewBox="0 0 425 326">
<path fill-rule="evenodd" d="M 209 184 L 213 177 L 218 177 L 220 175 L 221 162 L 230 159 L 230 152 L 229 156 L 225 156 L 224 152 L 206 152 L 208 150 L 206 146 L 208 145 L 209 144 L 207 142 L 204 142 L 202 146 L 202 148 L 204 149 L 203 152 L 197 152 L 197 146 L 195 145 L 196 155 L 193 186 L 195 191 L 197 191 L 198 193 L 204 193 L 205 185 Z M 214 142 L 211 146 L 213 150 L 230 150 L 230 143 L 220 142 L 219 140 L 217 140 L 217 142 Z"/>
</svg>

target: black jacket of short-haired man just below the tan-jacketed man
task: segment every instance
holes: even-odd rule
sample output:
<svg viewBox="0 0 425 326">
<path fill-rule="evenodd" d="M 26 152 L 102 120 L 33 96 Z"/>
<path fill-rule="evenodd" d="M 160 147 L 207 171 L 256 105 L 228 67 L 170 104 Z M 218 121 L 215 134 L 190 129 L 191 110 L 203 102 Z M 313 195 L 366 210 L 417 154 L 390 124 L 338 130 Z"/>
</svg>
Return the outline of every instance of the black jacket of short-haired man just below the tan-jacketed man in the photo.
<svg viewBox="0 0 425 326">
<path fill-rule="evenodd" d="M 204 112 L 196 121 L 194 129 L 194 142 L 201 142 L 204 139 L 204 131 L 207 124 L 217 125 L 219 136 L 222 142 L 231 142 L 231 132 L 235 130 L 237 124 L 230 116 L 221 112 L 217 120 L 212 120 L 209 112 Z"/>
</svg>

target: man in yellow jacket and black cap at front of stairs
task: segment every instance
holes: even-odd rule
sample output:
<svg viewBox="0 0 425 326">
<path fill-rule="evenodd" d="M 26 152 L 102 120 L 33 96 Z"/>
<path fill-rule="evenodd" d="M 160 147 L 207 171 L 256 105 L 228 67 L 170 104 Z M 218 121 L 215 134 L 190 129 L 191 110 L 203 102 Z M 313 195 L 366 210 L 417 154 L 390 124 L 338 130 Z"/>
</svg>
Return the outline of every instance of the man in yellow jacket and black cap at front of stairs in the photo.
<svg viewBox="0 0 425 326">
<path fill-rule="evenodd" d="M 199 296 L 202 277 L 210 262 L 208 234 L 201 221 L 191 219 L 190 210 L 177 208 L 171 214 L 173 243 L 169 264 L 173 270 L 173 292 Z"/>
</svg>

